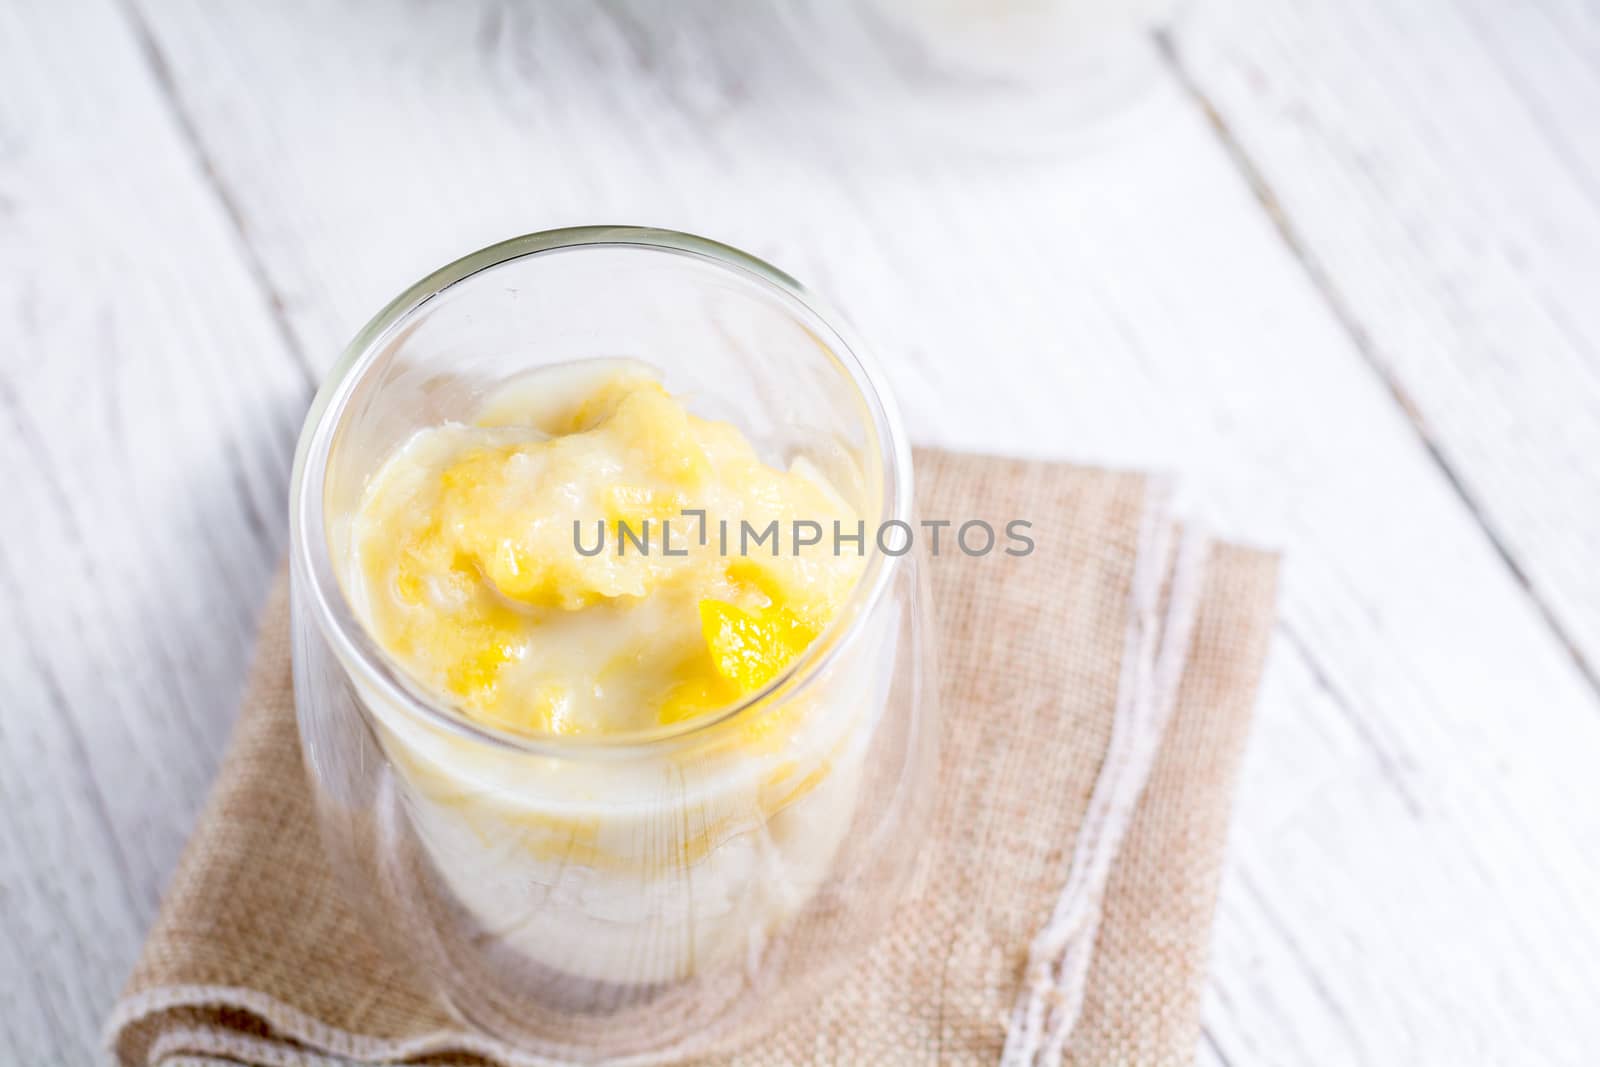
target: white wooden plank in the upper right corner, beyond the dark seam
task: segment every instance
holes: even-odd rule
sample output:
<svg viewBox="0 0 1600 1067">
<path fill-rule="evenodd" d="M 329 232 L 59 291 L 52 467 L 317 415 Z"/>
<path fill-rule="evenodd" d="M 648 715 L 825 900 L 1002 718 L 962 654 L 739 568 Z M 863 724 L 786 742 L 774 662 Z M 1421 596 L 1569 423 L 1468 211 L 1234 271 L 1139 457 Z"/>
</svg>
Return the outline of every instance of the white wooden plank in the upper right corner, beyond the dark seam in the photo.
<svg viewBox="0 0 1600 1067">
<path fill-rule="evenodd" d="M 1600 685 L 1600 32 L 1554 0 L 1192 10 L 1179 62 Z"/>
</svg>

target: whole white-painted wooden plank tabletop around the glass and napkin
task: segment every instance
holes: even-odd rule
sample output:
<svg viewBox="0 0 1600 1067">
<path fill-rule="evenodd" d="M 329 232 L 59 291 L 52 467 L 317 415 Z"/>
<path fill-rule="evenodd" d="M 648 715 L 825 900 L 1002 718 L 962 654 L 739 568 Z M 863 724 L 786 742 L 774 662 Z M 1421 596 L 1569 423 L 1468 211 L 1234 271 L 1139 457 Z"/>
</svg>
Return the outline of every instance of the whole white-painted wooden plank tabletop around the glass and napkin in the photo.
<svg viewBox="0 0 1600 1067">
<path fill-rule="evenodd" d="M 318 374 L 595 221 L 805 278 L 922 442 L 1288 550 L 1200 1062 L 1597 1062 L 1600 8 L 1195 0 L 1128 136 L 917 163 L 642 19 L 0 3 L 0 1062 L 99 1057 Z"/>
</svg>

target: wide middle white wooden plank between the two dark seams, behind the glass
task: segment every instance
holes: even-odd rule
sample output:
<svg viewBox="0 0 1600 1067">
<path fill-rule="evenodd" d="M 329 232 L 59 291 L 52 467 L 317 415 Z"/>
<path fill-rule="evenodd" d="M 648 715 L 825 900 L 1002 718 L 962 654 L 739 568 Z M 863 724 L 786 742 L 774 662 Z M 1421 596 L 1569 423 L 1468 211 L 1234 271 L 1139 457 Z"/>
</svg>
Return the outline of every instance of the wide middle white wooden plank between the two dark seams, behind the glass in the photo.
<svg viewBox="0 0 1600 1067">
<path fill-rule="evenodd" d="M 781 27 L 734 66 L 613 8 L 147 14 L 310 352 L 506 234 L 675 226 L 842 304 L 920 440 L 1179 469 L 1224 531 L 1290 544 L 1208 1056 L 1579 1062 L 1600 1037 L 1600 931 L 1565 918 L 1600 893 L 1595 694 L 1174 86 L 1070 157 L 907 160 L 758 74 L 790 69 Z"/>
</svg>

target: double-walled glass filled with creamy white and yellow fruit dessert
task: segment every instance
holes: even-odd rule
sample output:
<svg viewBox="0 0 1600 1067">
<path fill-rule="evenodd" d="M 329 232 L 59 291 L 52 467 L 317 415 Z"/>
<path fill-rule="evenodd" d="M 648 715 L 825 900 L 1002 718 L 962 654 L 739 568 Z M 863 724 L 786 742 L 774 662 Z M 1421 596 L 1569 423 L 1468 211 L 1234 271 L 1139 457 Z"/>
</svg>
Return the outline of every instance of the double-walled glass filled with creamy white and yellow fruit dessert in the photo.
<svg viewBox="0 0 1600 1067">
<path fill-rule="evenodd" d="M 795 282 L 629 227 L 467 256 L 352 342 L 290 504 L 322 833 L 466 1022 L 709 1051 L 888 923 L 936 771 L 910 456 Z"/>
</svg>

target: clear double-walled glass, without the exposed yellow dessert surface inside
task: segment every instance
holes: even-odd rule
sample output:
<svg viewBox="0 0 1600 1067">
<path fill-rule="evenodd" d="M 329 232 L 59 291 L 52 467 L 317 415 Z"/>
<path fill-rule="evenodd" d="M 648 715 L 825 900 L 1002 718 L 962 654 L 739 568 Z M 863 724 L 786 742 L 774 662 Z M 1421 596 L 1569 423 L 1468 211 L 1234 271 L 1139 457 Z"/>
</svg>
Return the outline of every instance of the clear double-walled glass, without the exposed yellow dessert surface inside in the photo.
<svg viewBox="0 0 1600 1067">
<path fill-rule="evenodd" d="M 765 689 L 699 720 L 522 736 L 429 697 L 346 595 L 366 478 L 531 368 L 635 357 L 867 520 L 845 609 Z M 350 344 L 291 486 L 294 696 L 352 899 L 445 1003 L 573 1061 L 693 1054 L 816 995 L 907 893 L 936 773 L 910 451 L 861 346 L 794 280 L 661 230 L 534 234 L 424 278 Z"/>
</svg>

